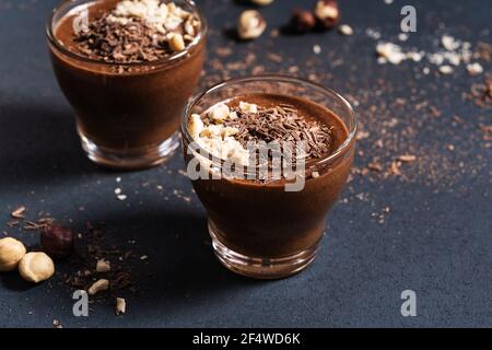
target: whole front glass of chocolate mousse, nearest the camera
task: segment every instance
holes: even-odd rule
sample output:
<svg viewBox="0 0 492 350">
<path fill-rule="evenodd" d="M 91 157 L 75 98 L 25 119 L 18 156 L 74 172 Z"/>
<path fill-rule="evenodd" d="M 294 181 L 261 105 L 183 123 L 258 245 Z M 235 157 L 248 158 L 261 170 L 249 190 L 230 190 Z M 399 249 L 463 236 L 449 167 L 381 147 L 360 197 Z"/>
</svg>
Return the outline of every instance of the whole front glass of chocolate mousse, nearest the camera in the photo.
<svg viewBox="0 0 492 350">
<path fill-rule="evenodd" d="M 306 268 L 352 165 L 356 117 L 345 98 L 282 75 L 226 81 L 181 119 L 187 174 L 219 260 L 278 279 Z"/>
</svg>

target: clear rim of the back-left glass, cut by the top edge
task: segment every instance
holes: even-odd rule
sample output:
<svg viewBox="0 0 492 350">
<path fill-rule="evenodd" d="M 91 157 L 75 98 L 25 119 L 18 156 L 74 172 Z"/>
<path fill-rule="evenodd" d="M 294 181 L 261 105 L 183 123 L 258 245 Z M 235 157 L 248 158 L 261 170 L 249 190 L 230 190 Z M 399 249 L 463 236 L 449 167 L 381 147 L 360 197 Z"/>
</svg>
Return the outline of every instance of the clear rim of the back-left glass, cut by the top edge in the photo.
<svg viewBox="0 0 492 350">
<path fill-rule="evenodd" d="M 148 67 L 148 66 L 165 66 L 165 65 L 171 65 L 174 63 L 177 59 L 185 57 L 186 55 L 188 55 L 194 48 L 196 48 L 199 44 L 201 44 L 204 38 L 207 37 L 207 33 L 208 33 L 208 23 L 207 23 L 207 19 L 204 18 L 203 13 L 200 11 L 200 9 L 197 7 L 197 4 L 195 3 L 194 0 L 181 0 L 185 1 L 187 4 L 189 4 L 194 11 L 198 14 L 199 19 L 200 19 L 200 33 L 194 38 L 194 40 L 191 43 L 189 43 L 186 48 L 183 51 L 173 54 L 168 57 L 164 57 L 161 59 L 156 59 L 154 61 L 142 61 L 142 62 L 107 62 L 104 60 L 98 60 L 98 59 L 93 59 L 93 58 L 89 58 L 89 57 L 84 57 L 82 55 L 79 55 L 77 52 L 73 52 L 71 50 L 69 50 L 68 48 L 66 48 L 63 45 L 60 45 L 60 43 L 57 40 L 57 38 L 55 37 L 55 32 L 54 32 L 54 20 L 55 20 L 55 15 L 66 9 L 66 8 L 70 8 L 70 4 L 72 4 L 74 1 L 77 0 L 62 0 L 57 7 L 55 7 L 51 11 L 51 14 L 48 16 L 48 20 L 46 22 L 46 36 L 48 37 L 49 43 L 60 52 L 62 52 L 63 55 L 73 58 L 75 60 L 79 61 L 83 61 L 86 63 L 93 63 L 93 65 L 103 65 L 103 66 L 121 66 L 121 67 Z M 83 3 L 83 4 L 79 4 L 78 7 L 74 7 L 72 9 L 70 9 L 67 14 L 70 11 L 73 11 L 77 8 L 80 7 L 87 7 L 90 5 L 90 3 L 92 2 L 99 2 L 99 1 L 104 1 L 104 0 L 90 0 L 87 1 L 87 3 Z"/>
</svg>

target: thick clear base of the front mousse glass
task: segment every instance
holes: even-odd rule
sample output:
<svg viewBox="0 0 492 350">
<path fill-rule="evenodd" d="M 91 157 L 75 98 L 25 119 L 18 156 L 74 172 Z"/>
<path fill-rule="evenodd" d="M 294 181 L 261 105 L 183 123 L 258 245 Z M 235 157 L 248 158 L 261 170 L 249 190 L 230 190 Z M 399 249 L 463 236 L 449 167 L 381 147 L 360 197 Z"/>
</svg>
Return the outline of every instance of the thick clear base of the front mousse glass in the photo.
<svg viewBox="0 0 492 350">
<path fill-rule="evenodd" d="M 233 272 L 256 279 L 282 279 L 301 272 L 316 257 L 318 244 L 306 250 L 282 258 L 262 258 L 245 256 L 227 248 L 219 241 L 209 221 L 209 233 L 215 256 Z"/>
</svg>

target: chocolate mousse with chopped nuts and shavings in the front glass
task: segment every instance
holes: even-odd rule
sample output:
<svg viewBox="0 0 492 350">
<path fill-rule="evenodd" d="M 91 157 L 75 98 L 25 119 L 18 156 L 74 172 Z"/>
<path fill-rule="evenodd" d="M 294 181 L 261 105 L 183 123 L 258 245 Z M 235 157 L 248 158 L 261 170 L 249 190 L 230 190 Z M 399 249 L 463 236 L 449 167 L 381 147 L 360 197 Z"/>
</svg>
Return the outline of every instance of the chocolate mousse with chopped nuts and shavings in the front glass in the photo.
<svg viewBox="0 0 492 350">
<path fill-rule="evenodd" d="M 350 131 L 342 119 L 306 98 L 246 94 L 190 115 L 184 133 L 212 158 L 238 166 L 259 165 L 260 158 L 248 150 L 250 142 L 303 145 L 305 183 L 298 190 L 285 190 L 292 179 L 283 176 L 201 176 L 192 184 L 209 214 L 215 254 L 226 267 L 251 277 L 280 278 L 307 266 L 353 161 L 354 139 L 345 142 Z M 188 162 L 195 156 L 187 152 Z M 268 162 L 272 170 L 271 159 Z M 200 165 L 212 173 L 218 168 Z"/>
</svg>

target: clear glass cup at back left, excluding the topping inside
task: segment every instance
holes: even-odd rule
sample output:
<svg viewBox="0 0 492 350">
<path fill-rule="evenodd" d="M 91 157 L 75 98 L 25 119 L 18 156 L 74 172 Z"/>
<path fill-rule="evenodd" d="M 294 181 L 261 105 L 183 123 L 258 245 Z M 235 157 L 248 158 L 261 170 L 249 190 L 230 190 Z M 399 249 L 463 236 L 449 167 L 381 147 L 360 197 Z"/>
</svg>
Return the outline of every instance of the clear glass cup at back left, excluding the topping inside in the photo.
<svg viewBox="0 0 492 350">
<path fill-rule="evenodd" d="M 179 118 L 203 67 L 207 22 L 194 1 L 174 0 L 197 14 L 200 33 L 185 50 L 151 62 L 89 59 L 60 40 L 57 31 L 65 19 L 92 20 L 97 15 L 94 9 L 118 1 L 62 2 L 47 23 L 48 47 L 87 156 L 104 166 L 142 168 L 163 162 L 179 144 Z"/>
</svg>

